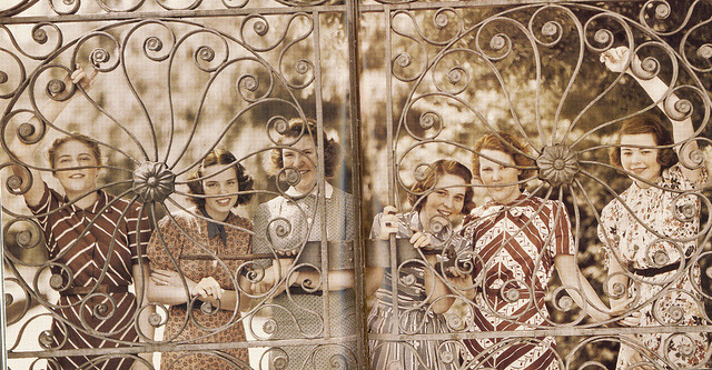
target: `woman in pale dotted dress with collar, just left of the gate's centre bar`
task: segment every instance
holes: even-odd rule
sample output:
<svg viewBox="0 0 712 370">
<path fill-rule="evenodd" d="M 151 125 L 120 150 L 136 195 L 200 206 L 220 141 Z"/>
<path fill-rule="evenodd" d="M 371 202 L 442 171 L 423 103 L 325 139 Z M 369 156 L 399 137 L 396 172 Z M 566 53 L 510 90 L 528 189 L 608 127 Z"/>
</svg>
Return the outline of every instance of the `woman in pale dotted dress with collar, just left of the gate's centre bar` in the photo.
<svg viewBox="0 0 712 370">
<path fill-rule="evenodd" d="M 301 253 L 308 242 L 326 238 L 329 248 L 342 248 L 338 241 L 354 240 L 354 200 L 350 194 L 324 183 L 325 202 L 317 189 L 317 128 L 312 121 L 294 119 L 280 132 L 279 143 L 289 148 L 273 150 L 273 173 L 290 184 L 283 196 L 259 204 L 255 212 L 255 242 L 253 252 L 293 257 Z M 340 161 L 340 146 L 324 137 L 324 177 L 332 178 Z M 325 213 L 325 218 L 323 218 Z M 326 224 L 323 224 L 323 221 Z M 326 234 L 323 234 L 323 229 Z M 336 242 L 336 243 L 332 243 Z M 319 246 L 320 247 L 320 246 Z M 346 250 L 329 250 L 329 254 L 347 256 Z M 319 251 L 320 254 L 320 251 Z M 358 334 L 358 320 L 354 292 L 354 270 L 320 271 L 320 264 L 299 263 L 294 269 L 293 258 L 257 261 L 268 268 L 265 279 L 255 291 L 271 294 L 270 339 L 314 338 L 324 334 L 326 313 L 324 299 L 328 299 L 329 337 Z M 285 281 L 288 274 L 288 282 Z M 328 287 L 324 284 L 328 278 Z M 270 368 L 326 369 L 334 359 L 346 361 L 347 369 L 356 367 L 356 342 L 312 346 L 284 346 L 270 350 Z"/>
</svg>

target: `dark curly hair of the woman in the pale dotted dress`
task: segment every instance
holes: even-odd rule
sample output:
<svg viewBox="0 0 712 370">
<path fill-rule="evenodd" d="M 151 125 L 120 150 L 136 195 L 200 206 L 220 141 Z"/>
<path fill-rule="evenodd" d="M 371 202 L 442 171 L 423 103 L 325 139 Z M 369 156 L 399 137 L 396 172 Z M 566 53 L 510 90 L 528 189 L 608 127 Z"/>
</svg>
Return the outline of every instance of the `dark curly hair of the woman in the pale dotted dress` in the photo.
<svg viewBox="0 0 712 370">
<path fill-rule="evenodd" d="M 309 136 L 312 137 L 312 141 L 314 142 L 314 147 L 317 144 L 317 129 L 316 122 L 310 119 L 307 119 L 305 122 L 300 118 L 295 118 L 289 120 L 289 124 L 287 130 L 281 132 L 281 137 L 277 141 L 278 143 L 284 143 L 285 138 L 295 139 L 299 136 Z M 285 163 L 281 160 L 281 148 L 273 149 L 270 162 L 269 162 L 269 172 L 271 174 L 279 173 L 285 167 Z M 324 134 L 324 177 L 330 179 L 334 177 L 336 171 L 338 170 L 338 166 L 342 160 L 342 146 L 336 142 L 334 139 L 329 139 Z"/>
</svg>

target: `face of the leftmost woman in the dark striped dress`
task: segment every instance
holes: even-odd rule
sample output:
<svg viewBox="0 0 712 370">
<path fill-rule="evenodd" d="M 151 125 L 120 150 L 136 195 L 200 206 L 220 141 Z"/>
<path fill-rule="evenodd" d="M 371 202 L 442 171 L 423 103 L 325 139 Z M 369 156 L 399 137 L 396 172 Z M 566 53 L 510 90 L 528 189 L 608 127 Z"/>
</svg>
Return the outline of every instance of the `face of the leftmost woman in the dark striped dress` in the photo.
<svg viewBox="0 0 712 370">
<path fill-rule="evenodd" d="M 70 140 L 57 149 L 55 157 L 55 177 L 70 199 L 97 188 L 98 168 L 77 167 L 97 166 L 98 159 L 91 147 L 77 140 Z"/>
</svg>

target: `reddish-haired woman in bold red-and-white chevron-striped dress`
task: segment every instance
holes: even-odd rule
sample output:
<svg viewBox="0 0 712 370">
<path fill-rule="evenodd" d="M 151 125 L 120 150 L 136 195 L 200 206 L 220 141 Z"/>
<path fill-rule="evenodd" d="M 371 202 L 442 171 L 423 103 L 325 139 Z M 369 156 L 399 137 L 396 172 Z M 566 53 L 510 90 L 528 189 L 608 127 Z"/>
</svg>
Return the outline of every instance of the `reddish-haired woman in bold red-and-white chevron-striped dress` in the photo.
<svg viewBox="0 0 712 370">
<path fill-rule="evenodd" d="M 556 270 L 562 286 L 585 312 L 607 320 L 607 307 L 578 271 L 568 212 L 560 201 L 522 190 L 534 161 L 516 137 L 487 133 L 474 147 L 475 179 L 491 201 L 476 208 L 463 228 L 475 253 L 472 281 L 465 290 L 475 304 L 481 331 L 508 331 L 551 324 L 544 298 Z M 584 303 L 585 300 L 585 303 Z M 553 337 L 527 341 L 511 338 L 466 339 L 473 368 L 560 369 Z"/>
</svg>

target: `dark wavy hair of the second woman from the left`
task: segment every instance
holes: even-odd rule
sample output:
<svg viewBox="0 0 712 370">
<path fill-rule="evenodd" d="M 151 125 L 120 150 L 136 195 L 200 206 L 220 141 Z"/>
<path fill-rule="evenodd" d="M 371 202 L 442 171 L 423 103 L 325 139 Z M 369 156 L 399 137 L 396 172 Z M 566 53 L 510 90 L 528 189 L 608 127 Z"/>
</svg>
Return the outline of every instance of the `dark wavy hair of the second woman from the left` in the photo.
<svg viewBox="0 0 712 370">
<path fill-rule="evenodd" d="M 205 190 L 202 189 L 202 181 L 198 179 L 202 178 L 205 168 L 215 164 L 233 164 L 233 167 L 235 168 L 235 173 L 237 174 L 239 191 L 243 192 L 253 190 L 255 180 L 251 176 L 249 176 L 249 173 L 247 173 L 245 167 L 237 161 L 231 152 L 225 149 L 216 148 L 211 152 L 207 153 L 205 158 L 202 158 L 202 163 L 200 163 L 200 167 L 198 167 L 198 169 L 188 178 L 188 188 L 190 189 L 189 192 L 191 194 L 205 194 Z M 253 193 L 240 193 L 239 196 L 237 196 L 237 202 L 234 207 L 245 204 L 251 198 Z M 202 197 L 189 197 L 188 200 L 198 207 L 205 207 L 205 198 Z"/>
</svg>

